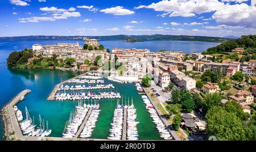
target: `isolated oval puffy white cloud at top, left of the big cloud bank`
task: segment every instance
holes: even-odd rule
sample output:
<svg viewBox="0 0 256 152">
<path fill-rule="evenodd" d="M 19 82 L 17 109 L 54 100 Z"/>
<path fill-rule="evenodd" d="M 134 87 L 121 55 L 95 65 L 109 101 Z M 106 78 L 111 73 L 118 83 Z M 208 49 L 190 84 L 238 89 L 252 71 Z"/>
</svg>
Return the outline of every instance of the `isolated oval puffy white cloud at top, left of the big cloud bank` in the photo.
<svg viewBox="0 0 256 152">
<path fill-rule="evenodd" d="M 113 15 L 131 15 L 135 13 L 134 11 L 123 9 L 123 6 L 111 7 L 108 9 L 100 10 L 100 12 Z"/>
</svg>

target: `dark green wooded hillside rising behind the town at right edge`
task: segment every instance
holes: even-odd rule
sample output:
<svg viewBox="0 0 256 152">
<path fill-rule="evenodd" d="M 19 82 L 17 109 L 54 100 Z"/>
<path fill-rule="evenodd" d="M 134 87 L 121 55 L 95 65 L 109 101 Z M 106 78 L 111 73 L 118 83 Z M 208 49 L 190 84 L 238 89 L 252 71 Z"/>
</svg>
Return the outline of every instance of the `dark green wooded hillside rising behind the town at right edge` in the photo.
<svg viewBox="0 0 256 152">
<path fill-rule="evenodd" d="M 249 53 L 254 53 L 256 50 L 256 35 L 241 36 L 240 39 L 230 39 L 222 42 L 216 47 L 208 48 L 206 54 L 215 54 L 220 52 L 231 52 L 235 48 L 249 49 Z M 253 50 L 253 51 L 252 51 Z"/>
</svg>

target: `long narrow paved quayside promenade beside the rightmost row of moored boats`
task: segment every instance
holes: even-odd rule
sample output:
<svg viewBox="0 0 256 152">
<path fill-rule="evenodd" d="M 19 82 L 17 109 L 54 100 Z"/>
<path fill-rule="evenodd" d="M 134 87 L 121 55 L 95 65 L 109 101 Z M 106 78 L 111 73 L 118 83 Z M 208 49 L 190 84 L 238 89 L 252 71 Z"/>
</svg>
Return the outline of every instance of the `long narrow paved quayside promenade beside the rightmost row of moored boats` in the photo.
<svg viewBox="0 0 256 152">
<path fill-rule="evenodd" d="M 146 93 L 148 99 L 150 100 L 150 102 L 151 102 L 152 105 L 154 106 L 156 112 L 157 112 L 158 115 L 160 116 L 160 119 L 163 121 L 163 123 L 164 123 L 164 124 L 167 126 L 167 128 L 168 128 L 168 126 L 169 126 L 168 121 L 166 121 L 165 119 L 163 119 L 163 118 L 161 117 L 161 115 L 163 115 L 163 113 L 159 110 L 159 108 L 158 108 L 158 106 L 155 104 L 155 102 L 153 102 L 153 100 L 152 100 L 150 94 L 148 94 L 147 90 L 146 90 L 144 87 L 142 87 L 142 88 L 143 88 L 144 92 Z M 175 133 L 174 130 L 170 130 L 170 128 L 168 128 L 168 131 L 171 133 L 172 138 L 173 138 L 174 140 L 180 141 L 180 138 L 177 136 L 177 134 Z"/>
</svg>

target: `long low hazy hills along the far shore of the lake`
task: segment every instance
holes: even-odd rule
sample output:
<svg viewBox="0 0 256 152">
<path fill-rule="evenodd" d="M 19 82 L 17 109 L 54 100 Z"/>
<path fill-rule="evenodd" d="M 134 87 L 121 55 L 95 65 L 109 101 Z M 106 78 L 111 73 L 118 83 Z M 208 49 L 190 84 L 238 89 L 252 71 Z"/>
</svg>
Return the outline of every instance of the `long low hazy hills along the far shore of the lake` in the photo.
<svg viewBox="0 0 256 152">
<path fill-rule="evenodd" d="M 15 36 L 0 37 L 0 41 L 27 41 L 27 40 L 82 40 L 83 37 L 98 40 L 126 40 L 137 39 L 141 41 L 150 40 L 180 40 L 180 41 L 208 41 L 222 42 L 227 40 L 223 37 L 188 36 L 188 35 L 111 35 L 111 36 Z"/>
</svg>

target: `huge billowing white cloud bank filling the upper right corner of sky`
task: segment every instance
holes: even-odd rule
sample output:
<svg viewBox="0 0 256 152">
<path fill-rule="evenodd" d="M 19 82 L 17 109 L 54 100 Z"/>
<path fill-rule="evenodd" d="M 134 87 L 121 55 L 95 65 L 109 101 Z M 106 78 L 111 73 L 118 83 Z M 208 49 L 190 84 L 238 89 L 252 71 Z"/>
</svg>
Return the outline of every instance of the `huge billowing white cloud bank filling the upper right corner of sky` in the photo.
<svg viewBox="0 0 256 152">
<path fill-rule="evenodd" d="M 226 1 L 226 2 L 224 2 Z M 191 17 L 205 12 L 213 12 L 212 19 L 218 24 L 228 26 L 256 27 L 256 7 L 247 5 L 246 0 L 162 0 L 151 3 L 148 6 L 139 6 L 138 9 L 146 8 L 163 12 L 159 16 L 183 16 Z M 233 2 L 233 3 L 229 3 Z M 234 2 L 236 4 L 234 5 Z M 255 3 L 254 3 L 255 4 Z M 210 20 L 210 19 L 203 19 Z"/>
</svg>

